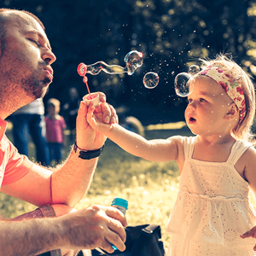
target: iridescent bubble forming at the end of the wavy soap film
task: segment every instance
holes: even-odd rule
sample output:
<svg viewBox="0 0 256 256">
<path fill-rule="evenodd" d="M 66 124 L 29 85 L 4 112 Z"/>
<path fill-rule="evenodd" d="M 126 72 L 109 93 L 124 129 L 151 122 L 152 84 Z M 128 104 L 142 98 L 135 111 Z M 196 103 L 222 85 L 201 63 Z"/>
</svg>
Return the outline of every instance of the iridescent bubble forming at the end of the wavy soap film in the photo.
<svg viewBox="0 0 256 256">
<path fill-rule="evenodd" d="M 143 53 L 137 50 L 131 50 L 125 55 L 125 63 L 128 75 L 132 75 L 137 70 L 137 67 L 142 67 Z"/>
</svg>

